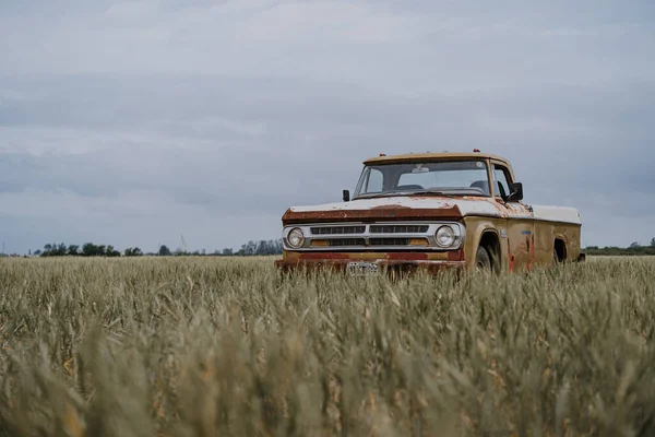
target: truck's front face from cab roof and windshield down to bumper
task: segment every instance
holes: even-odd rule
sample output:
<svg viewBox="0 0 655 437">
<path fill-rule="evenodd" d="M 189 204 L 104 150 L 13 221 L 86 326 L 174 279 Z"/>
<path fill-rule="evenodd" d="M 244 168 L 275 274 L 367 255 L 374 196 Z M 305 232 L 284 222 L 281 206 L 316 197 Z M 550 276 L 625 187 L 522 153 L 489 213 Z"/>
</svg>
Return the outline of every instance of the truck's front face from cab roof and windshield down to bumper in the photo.
<svg viewBox="0 0 655 437">
<path fill-rule="evenodd" d="M 283 216 L 283 270 L 437 271 L 466 265 L 462 202 L 489 198 L 479 154 L 425 154 L 365 162 L 353 200 L 295 206 Z"/>
</svg>

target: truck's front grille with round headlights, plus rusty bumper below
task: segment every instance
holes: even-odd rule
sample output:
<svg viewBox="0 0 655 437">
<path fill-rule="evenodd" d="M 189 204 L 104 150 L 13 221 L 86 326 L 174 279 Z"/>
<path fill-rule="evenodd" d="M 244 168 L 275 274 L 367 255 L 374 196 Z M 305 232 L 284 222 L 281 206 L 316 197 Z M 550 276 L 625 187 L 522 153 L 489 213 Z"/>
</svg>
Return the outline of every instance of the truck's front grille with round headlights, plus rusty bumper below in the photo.
<svg viewBox="0 0 655 437">
<path fill-rule="evenodd" d="M 350 274 L 464 267 L 465 229 L 451 221 L 311 223 L 284 228 L 285 269 L 330 268 Z"/>
</svg>

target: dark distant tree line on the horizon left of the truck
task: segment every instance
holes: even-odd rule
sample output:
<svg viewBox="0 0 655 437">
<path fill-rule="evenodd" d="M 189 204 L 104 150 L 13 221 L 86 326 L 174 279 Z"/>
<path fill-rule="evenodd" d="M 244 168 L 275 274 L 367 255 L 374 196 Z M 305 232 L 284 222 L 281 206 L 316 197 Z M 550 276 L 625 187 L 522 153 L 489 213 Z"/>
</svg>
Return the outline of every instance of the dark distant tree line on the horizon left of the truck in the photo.
<svg viewBox="0 0 655 437">
<path fill-rule="evenodd" d="M 182 249 L 177 249 L 172 251 L 166 245 L 159 246 L 159 249 L 156 252 L 144 253 L 139 247 L 128 247 L 121 253 L 120 251 L 116 250 L 111 245 L 95 245 L 93 243 L 85 243 L 82 246 L 66 245 L 63 243 L 53 243 L 45 245 L 43 250 L 34 251 L 35 256 L 40 257 L 141 257 L 144 255 L 158 257 L 250 257 L 279 253 L 282 253 L 282 239 L 248 241 L 247 244 L 241 245 L 241 248 L 239 250 L 225 248 L 223 250 L 215 250 L 212 253 L 206 253 L 204 249 L 195 250 L 192 252 Z"/>
</svg>

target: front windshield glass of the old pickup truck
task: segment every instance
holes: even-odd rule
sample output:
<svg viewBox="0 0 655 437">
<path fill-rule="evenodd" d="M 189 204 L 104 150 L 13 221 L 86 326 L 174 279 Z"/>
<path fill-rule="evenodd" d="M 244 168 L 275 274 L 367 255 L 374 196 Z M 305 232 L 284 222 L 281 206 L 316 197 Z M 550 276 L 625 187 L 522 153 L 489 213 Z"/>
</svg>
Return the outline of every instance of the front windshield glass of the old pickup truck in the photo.
<svg viewBox="0 0 655 437">
<path fill-rule="evenodd" d="M 441 161 L 367 165 L 355 198 L 438 192 L 491 196 L 484 161 Z"/>
</svg>

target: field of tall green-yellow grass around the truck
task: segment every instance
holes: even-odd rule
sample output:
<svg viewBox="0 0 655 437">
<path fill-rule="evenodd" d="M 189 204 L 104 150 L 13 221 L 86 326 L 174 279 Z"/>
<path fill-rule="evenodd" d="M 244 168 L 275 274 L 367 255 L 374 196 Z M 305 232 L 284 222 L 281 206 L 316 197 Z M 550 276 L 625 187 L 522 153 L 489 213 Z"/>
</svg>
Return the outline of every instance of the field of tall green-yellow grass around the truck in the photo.
<svg viewBox="0 0 655 437">
<path fill-rule="evenodd" d="M 655 259 L 282 279 L 0 260 L 0 435 L 653 435 Z"/>
</svg>

